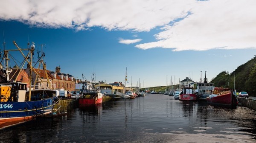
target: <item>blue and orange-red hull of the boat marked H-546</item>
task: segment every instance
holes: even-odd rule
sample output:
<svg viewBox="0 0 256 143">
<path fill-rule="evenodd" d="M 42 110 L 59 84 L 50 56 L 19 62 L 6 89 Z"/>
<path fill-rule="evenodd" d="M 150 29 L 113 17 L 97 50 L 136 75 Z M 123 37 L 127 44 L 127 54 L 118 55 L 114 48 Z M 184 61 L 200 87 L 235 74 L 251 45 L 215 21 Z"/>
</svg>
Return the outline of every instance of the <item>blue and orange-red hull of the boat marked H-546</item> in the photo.
<svg viewBox="0 0 256 143">
<path fill-rule="evenodd" d="M 26 102 L 0 102 L 0 128 L 33 120 L 52 112 L 52 99 Z"/>
</svg>

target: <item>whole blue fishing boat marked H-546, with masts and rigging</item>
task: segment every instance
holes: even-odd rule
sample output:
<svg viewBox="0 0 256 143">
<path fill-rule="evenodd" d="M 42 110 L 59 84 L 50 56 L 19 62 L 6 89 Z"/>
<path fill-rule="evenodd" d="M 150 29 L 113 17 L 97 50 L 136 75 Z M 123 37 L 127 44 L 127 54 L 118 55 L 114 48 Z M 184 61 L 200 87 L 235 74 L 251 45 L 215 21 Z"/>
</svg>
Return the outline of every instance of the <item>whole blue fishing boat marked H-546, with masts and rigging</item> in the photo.
<svg viewBox="0 0 256 143">
<path fill-rule="evenodd" d="M 31 48 L 21 49 L 15 41 L 13 41 L 13 43 L 17 49 L 6 50 L 4 43 L 4 55 L 1 55 L 3 58 L 0 64 L 0 128 L 25 121 L 30 121 L 35 119 L 37 116 L 47 115 L 52 112 L 52 98 L 44 96 L 33 98 L 31 96 L 30 84 L 29 92 L 26 94 L 28 86 L 27 83 L 21 82 L 22 79 L 20 81 L 17 80 L 21 70 L 14 70 L 18 72 L 16 74 L 17 77 L 12 82 L 10 81 L 12 78 L 10 79 L 9 75 L 13 72 L 13 69 L 10 68 L 8 64 L 10 62 L 10 59 L 8 58 L 8 55 L 10 55 L 9 51 L 19 51 L 22 53 L 25 62 L 23 61 L 20 67 L 23 67 L 26 62 L 28 63 L 30 68 L 29 83 L 32 81 L 32 71 L 36 73 L 35 69 L 32 67 L 32 56 L 35 50 L 35 45 L 32 44 Z M 28 51 L 27 56 L 23 54 L 23 50 Z M 31 58 L 28 58 L 29 56 Z M 30 59 L 30 61 L 28 59 Z M 15 74 L 12 73 L 12 75 Z"/>
</svg>

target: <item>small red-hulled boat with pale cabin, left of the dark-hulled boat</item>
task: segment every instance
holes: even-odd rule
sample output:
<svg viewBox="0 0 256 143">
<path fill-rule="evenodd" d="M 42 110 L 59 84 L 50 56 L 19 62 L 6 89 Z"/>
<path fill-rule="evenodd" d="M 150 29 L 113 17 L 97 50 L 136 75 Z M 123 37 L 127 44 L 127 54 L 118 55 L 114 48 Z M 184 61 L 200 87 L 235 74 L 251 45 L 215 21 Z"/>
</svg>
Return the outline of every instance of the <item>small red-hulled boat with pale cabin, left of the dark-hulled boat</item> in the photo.
<svg viewBox="0 0 256 143">
<path fill-rule="evenodd" d="M 192 87 L 184 87 L 179 94 L 179 99 L 181 101 L 196 101 L 197 95 Z"/>
</svg>

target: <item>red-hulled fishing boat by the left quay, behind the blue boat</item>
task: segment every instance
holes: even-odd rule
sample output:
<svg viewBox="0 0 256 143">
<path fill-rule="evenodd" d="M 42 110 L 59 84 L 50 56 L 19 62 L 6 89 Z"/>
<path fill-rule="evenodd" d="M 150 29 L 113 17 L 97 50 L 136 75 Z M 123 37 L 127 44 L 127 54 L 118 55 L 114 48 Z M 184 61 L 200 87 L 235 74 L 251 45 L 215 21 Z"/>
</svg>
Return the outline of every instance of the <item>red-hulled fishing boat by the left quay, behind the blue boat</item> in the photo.
<svg viewBox="0 0 256 143">
<path fill-rule="evenodd" d="M 92 83 L 84 82 L 83 95 L 79 98 L 79 107 L 86 107 L 96 104 L 101 104 L 103 95 L 100 93 L 100 90 L 96 89 L 92 84 L 95 82 L 95 74 L 93 73 Z M 84 75 L 82 75 L 84 78 Z"/>
</svg>

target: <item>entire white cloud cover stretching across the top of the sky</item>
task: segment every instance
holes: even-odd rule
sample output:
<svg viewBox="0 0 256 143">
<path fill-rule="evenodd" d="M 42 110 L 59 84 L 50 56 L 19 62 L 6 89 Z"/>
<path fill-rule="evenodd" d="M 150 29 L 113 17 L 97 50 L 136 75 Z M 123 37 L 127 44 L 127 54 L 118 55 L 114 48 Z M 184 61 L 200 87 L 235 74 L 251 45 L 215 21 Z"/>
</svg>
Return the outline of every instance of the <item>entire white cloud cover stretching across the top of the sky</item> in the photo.
<svg viewBox="0 0 256 143">
<path fill-rule="evenodd" d="M 1 0 L 0 20 L 42 28 L 151 31 L 140 49 L 173 51 L 256 47 L 255 0 Z M 137 41 L 136 41 L 137 40 Z M 140 39 L 141 40 L 141 39 Z M 131 44 L 134 40 L 119 40 Z"/>
</svg>

